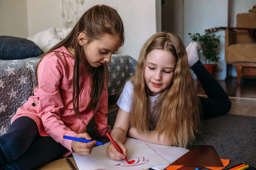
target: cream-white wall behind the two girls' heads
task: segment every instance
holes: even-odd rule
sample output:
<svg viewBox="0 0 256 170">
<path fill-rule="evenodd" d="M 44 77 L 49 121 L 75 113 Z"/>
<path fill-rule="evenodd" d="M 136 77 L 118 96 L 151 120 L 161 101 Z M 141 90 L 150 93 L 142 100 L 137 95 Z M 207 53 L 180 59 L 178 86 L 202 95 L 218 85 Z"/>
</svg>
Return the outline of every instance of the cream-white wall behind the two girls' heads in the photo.
<svg viewBox="0 0 256 170">
<path fill-rule="evenodd" d="M 79 3 L 79 17 L 95 4 L 104 3 L 115 8 L 125 28 L 125 43 L 119 53 L 131 55 L 136 60 L 143 43 L 161 31 L 161 0 L 1 0 L 0 35 L 26 38 L 50 27 L 65 27 L 62 1 Z"/>
</svg>

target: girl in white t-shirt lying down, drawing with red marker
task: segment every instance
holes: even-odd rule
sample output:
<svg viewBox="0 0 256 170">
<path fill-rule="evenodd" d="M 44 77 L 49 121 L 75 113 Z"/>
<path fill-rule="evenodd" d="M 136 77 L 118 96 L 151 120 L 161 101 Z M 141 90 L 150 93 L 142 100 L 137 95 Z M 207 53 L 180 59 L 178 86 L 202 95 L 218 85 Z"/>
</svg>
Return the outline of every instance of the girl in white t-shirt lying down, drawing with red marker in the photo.
<svg viewBox="0 0 256 170">
<path fill-rule="evenodd" d="M 202 65 L 196 48 L 193 42 L 186 49 L 178 36 L 168 32 L 156 33 L 146 41 L 136 73 L 117 101 L 120 109 L 111 136 L 124 154 L 111 143 L 106 150 L 111 159 L 125 158 L 126 136 L 186 147 L 195 140 L 200 118 L 216 117 L 230 110 L 227 94 Z M 197 96 L 189 67 L 207 98 Z"/>
</svg>

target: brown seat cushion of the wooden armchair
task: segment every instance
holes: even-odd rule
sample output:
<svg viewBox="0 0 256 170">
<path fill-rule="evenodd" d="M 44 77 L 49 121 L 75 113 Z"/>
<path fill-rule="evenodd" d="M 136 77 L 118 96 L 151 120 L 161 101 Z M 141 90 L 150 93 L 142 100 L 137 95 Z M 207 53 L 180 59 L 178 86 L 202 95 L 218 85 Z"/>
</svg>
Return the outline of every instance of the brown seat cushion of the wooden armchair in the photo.
<svg viewBox="0 0 256 170">
<path fill-rule="evenodd" d="M 228 64 L 233 62 L 256 62 L 256 43 L 243 43 L 228 46 L 225 61 Z"/>
</svg>

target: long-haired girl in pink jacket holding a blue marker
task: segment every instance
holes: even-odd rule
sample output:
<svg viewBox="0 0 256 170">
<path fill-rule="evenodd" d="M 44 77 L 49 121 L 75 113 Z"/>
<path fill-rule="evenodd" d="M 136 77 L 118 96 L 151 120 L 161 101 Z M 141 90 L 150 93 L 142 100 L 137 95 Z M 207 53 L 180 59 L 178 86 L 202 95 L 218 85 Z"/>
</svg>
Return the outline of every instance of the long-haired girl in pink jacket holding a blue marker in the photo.
<svg viewBox="0 0 256 170">
<path fill-rule="evenodd" d="M 38 63 L 34 96 L 0 136 L 2 169 L 33 169 L 72 152 L 90 154 L 96 141 L 63 136 L 91 140 L 86 126 L 92 117 L 98 136 L 109 131 L 106 62 L 123 43 L 124 26 L 116 10 L 100 4 L 83 14 Z"/>
</svg>

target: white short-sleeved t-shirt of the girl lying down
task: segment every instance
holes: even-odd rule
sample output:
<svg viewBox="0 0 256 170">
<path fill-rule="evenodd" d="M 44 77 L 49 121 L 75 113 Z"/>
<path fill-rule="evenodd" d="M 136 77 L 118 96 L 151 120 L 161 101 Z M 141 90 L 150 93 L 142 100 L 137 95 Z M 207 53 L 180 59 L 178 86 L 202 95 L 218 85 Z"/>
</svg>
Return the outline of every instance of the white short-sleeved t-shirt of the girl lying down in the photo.
<svg viewBox="0 0 256 170">
<path fill-rule="evenodd" d="M 122 94 L 120 95 L 118 101 L 116 102 L 116 104 L 119 106 L 120 109 L 126 111 L 126 112 L 130 112 L 131 110 L 131 103 L 132 103 L 132 92 L 133 92 L 133 85 L 131 83 L 131 81 L 127 81 L 125 83 L 124 89 L 122 91 Z M 148 106 L 148 111 L 150 113 L 150 117 L 152 118 L 152 122 L 156 122 L 156 114 L 157 114 L 157 110 L 154 108 L 155 105 L 155 101 L 157 99 L 157 97 L 159 96 L 159 94 L 157 94 L 157 96 L 149 96 L 149 106 Z"/>
</svg>

